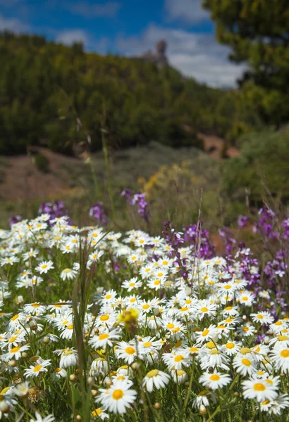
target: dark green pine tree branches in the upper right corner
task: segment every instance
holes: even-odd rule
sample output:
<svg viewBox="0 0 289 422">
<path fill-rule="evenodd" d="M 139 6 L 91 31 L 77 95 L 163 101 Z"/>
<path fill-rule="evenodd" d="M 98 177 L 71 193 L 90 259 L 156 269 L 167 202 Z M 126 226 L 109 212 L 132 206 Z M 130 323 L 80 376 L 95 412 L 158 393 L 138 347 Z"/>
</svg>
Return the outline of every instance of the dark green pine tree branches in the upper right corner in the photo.
<svg viewBox="0 0 289 422">
<path fill-rule="evenodd" d="M 216 37 L 232 48 L 230 59 L 245 62 L 243 109 L 266 124 L 288 121 L 288 0 L 203 0 L 216 22 Z"/>
</svg>

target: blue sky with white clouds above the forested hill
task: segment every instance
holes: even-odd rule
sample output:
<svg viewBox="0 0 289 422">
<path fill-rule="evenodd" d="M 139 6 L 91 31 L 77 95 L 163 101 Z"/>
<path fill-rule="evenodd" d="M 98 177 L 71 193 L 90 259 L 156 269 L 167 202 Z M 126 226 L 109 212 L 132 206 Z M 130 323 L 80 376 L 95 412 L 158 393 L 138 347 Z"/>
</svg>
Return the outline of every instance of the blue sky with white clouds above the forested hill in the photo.
<svg viewBox="0 0 289 422">
<path fill-rule="evenodd" d="M 44 34 L 99 53 L 135 56 L 168 42 L 168 60 L 184 75 L 233 86 L 243 68 L 214 39 L 202 0 L 0 0 L 0 30 Z"/>
</svg>

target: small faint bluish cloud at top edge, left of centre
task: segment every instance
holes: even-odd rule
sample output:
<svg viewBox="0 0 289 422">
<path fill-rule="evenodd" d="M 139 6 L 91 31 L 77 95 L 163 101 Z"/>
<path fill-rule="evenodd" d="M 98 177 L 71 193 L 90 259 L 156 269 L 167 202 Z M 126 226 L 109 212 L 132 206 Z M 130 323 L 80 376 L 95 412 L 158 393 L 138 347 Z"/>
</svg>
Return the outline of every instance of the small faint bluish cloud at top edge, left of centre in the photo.
<svg viewBox="0 0 289 422">
<path fill-rule="evenodd" d="M 121 9 L 118 1 L 106 1 L 104 4 L 91 4 L 85 1 L 79 3 L 66 2 L 63 7 L 70 13 L 83 16 L 84 18 L 111 18 L 116 16 Z"/>
</svg>

